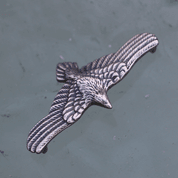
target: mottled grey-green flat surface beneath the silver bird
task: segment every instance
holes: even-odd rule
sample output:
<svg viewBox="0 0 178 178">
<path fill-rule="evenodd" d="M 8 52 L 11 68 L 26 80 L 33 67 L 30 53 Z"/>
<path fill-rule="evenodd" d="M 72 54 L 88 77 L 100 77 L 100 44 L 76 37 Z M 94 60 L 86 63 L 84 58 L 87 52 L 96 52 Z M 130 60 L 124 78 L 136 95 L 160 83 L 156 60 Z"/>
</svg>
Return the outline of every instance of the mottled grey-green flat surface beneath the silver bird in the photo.
<svg viewBox="0 0 178 178">
<path fill-rule="evenodd" d="M 177 17 L 176 0 L 1 0 L 0 177 L 177 177 Z M 46 154 L 27 151 L 63 85 L 56 64 L 81 67 L 142 32 L 160 44 L 109 90 L 113 109 L 91 107 Z"/>
</svg>

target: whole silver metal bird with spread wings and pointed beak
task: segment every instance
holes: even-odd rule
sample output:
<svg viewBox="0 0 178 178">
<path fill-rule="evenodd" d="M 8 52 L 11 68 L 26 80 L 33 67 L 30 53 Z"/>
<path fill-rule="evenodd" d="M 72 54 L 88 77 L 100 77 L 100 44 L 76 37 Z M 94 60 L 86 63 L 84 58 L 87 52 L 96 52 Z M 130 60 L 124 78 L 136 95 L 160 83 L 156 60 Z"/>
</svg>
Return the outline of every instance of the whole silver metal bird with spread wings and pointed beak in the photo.
<svg viewBox="0 0 178 178">
<path fill-rule="evenodd" d="M 78 121 L 92 104 L 111 109 L 108 89 L 120 82 L 144 54 L 154 53 L 158 44 L 155 35 L 143 33 L 131 38 L 116 53 L 81 69 L 75 62 L 59 63 L 56 79 L 65 84 L 54 98 L 49 114 L 31 129 L 27 149 L 32 153 L 46 153 L 48 143 Z"/>
</svg>

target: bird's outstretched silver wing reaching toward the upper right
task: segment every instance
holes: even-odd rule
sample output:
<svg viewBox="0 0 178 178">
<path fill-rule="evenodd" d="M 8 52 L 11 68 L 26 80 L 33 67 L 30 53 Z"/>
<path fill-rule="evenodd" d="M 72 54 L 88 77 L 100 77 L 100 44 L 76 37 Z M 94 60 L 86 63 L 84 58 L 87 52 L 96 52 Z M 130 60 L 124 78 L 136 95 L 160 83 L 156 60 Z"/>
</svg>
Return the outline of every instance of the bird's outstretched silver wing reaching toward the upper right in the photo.
<svg viewBox="0 0 178 178">
<path fill-rule="evenodd" d="M 81 72 L 105 79 L 106 88 L 110 88 L 130 71 L 132 66 L 147 52 L 155 52 L 158 39 L 153 34 L 135 35 L 116 53 L 103 56 L 81 68 Z"/>
</svg>

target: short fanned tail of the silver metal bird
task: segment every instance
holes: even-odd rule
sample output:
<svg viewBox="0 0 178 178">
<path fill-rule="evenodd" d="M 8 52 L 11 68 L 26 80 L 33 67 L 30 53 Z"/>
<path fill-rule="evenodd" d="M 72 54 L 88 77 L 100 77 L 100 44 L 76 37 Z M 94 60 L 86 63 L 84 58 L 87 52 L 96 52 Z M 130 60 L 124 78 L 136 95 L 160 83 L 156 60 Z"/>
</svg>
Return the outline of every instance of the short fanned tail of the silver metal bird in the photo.
<svg viewBox="0 0 178 178">
<path fill-rule="evenodd" d="M 64 82 L 69 79 L 69 73 L 72 74 L 78 71 L 78 65 L 76 62 L 63 62 L 57 64 L 56 68 L 56 80 L 58 82 Z"/>
</svg>

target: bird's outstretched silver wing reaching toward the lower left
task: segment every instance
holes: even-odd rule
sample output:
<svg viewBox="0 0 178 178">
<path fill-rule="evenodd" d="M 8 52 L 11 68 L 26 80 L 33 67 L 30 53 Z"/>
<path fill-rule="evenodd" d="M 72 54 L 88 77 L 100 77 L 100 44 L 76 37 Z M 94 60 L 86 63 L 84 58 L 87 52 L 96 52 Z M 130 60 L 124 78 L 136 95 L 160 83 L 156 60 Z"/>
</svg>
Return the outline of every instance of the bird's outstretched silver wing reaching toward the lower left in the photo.
<svg viewBox="0 0 178 178">
<path fill-rule="evenodd" d="M 89 105 L 76 83 L 64 84 L 56 95 L 49 114 L 31 129 L 27 138 L 27 149 L 33 153 L 45 153 L 47 144 L 75 123 Z"/>
</svg>

